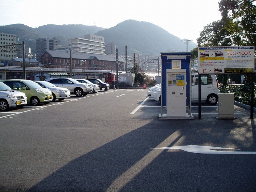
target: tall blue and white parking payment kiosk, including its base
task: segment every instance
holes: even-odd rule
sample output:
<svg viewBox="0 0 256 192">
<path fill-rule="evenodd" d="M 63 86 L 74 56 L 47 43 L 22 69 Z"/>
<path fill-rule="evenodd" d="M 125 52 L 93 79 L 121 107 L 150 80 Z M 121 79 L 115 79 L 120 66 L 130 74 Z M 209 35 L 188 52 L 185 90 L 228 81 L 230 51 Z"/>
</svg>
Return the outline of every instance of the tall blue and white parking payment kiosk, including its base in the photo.
<svg viewBox="0 0 256 192">
<path fill-rule="evenodd" d="M 162 102 L 160 119 L 194 119 L 191 115 L 192 52 L 161 52 Z M 166 114 L 163 114 L 166 106 Z M 186 110 L 188 108 L 188 114 Z"/>
</svg>

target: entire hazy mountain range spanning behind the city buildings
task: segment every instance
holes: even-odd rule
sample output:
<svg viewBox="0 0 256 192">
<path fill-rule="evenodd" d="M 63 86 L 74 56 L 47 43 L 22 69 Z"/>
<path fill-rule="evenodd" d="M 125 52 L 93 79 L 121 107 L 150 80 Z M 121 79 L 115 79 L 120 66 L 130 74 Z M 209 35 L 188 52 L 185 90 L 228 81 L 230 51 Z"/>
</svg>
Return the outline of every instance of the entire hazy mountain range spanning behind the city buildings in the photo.
<svg viewBox="0 0 256 192">
<path fill-rule="evenodd" d="M 44 25 L 31 28 L 24 24 L 12 24 L 0 26 L 0 32 L 16 34 L 20 43 L 25 41 L 25 47 L 31 47 L 32 53 L 36 53 L 37 38 L 57 37 L 62 46 L 68 45 L 69 38 L 84 38 L 85 34 L 104 36 L 107 43 L 114 42 L 119 54 L 125 54 L 127 45 L 128 53 L 160 55 L 160 52 L 185 51 L 186 44 L 180 38 L 170 34 L 157 25 L 136 20 L 126 20 L 120 24 L 104 29 L 97 26 L 85 25 Z M 194 42 L 188 44 L 188 50 L 196 47 Z"/>
</svg>

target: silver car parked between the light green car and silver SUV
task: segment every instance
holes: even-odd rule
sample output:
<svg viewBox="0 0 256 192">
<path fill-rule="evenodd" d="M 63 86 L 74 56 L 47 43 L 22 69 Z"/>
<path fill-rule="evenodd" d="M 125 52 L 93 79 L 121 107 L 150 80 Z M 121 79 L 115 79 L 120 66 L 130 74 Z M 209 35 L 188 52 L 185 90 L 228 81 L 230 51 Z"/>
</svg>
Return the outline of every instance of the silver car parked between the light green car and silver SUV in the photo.
<svg viewBox="0 0 256 192">
<path fill-rule="evenodd" d="M 65 98 L 70 97 L 70 90 L 63 88 L 63 87 L 57 87 L 56 85 L 47 82 L 47 81 L 34 81 L 38 85 L 40 85 L 42 88 L 50 89 L 52 92 L 52 101 L 55 101 L 56 99 L 62 101 Z"/>
</svg>

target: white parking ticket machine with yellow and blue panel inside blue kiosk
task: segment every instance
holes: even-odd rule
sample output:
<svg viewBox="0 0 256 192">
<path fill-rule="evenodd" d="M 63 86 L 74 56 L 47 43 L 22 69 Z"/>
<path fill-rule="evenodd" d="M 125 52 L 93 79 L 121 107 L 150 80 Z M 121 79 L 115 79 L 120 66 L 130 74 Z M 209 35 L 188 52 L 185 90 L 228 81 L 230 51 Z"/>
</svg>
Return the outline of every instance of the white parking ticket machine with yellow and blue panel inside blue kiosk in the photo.
<svg viewBox="0 0 256 192">
<path fill-rule="evenodd" d="M 166 70 L 167 116 L 186 116 L 186 69 Z"/>
</svg>

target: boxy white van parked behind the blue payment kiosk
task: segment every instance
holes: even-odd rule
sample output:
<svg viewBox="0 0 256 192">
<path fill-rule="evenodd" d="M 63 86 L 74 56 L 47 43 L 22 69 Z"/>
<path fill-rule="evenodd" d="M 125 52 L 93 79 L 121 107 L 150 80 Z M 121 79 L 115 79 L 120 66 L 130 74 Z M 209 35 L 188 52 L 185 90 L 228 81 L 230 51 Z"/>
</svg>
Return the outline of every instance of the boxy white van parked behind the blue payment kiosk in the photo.
<svg viewBox="0 0 256 192">
<path fill-rule="evenodd" d="M 191 101 L 198 102 L 198 74 L 191 74 Z M 154 100 L 161 102 L 161 89 L 154 92 Z M 201 75 L 201 101 L 211 105 L 218 102 L 218 94 L 220 93 L 219 84 L 216 75 Z"/>
</svg>

